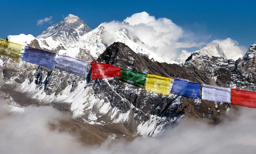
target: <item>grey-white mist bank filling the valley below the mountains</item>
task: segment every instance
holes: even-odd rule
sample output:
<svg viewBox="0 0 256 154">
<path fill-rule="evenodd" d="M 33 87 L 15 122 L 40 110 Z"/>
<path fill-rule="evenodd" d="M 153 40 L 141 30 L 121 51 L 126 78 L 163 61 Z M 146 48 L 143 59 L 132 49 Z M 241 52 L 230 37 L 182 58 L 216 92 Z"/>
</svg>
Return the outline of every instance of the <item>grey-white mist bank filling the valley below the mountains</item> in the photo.
<svg viewBox="0 0 256 154">
<path fill-rule="evenodd" d="M 256 111 L 230 110 L 220 125 L 183 119 L 159 137 L 137 138 L 126 143 L 110 140 L 102 145 L 83 146 L 72 134 L 49 129 L 67 117 L 51 107 L 26 107 L 10 113 L 0 101 L 1 154 L 241 154 L 256 150 Z"/>
</svg>

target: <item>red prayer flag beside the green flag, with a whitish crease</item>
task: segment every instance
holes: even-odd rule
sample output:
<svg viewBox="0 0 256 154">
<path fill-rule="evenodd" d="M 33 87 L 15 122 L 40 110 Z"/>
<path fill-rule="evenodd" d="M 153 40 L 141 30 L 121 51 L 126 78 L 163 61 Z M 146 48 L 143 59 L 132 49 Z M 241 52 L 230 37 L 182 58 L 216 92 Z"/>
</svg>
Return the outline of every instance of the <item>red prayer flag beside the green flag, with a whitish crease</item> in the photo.
<svg viewBox="0 0 256 154">
<path fill-rule="evenodd" d="M 112 66 L 104 63 L 93 63 L 92 66 L 92 79 L 105 79 L 109 77 L 122 76 L 121 69 L 116 66 Z"/>
</svg>

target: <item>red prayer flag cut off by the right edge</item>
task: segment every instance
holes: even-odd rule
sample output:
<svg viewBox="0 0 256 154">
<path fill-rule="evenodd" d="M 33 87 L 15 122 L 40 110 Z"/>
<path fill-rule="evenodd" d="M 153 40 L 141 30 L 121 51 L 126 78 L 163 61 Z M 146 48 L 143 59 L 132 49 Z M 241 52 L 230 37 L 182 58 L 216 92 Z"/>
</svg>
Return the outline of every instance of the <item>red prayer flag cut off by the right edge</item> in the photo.
<svg viewBox="0 0 256 154">
<path fill-rule="evenodd" d="M 242 89 L 231 89 L 231 104 L 256 108 L 256 92 Z"/>
</svg>

